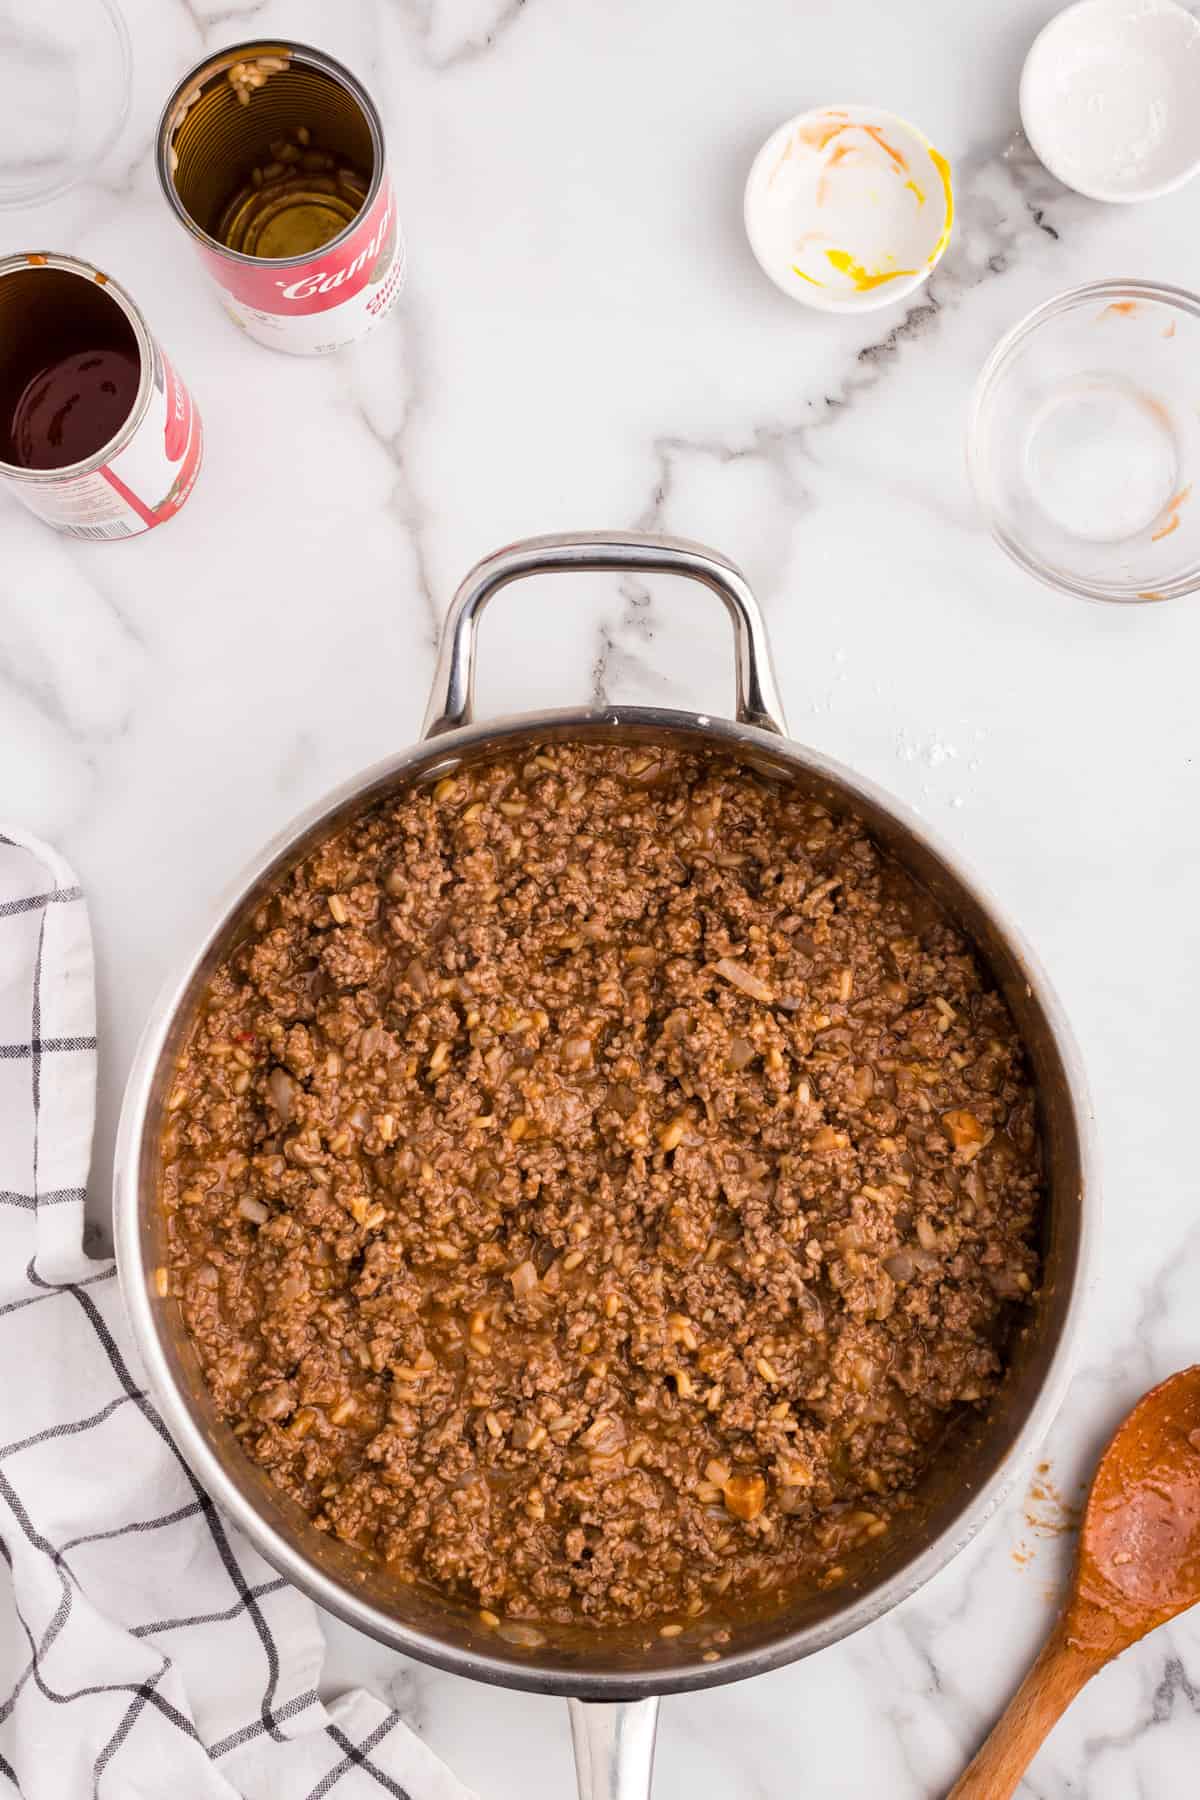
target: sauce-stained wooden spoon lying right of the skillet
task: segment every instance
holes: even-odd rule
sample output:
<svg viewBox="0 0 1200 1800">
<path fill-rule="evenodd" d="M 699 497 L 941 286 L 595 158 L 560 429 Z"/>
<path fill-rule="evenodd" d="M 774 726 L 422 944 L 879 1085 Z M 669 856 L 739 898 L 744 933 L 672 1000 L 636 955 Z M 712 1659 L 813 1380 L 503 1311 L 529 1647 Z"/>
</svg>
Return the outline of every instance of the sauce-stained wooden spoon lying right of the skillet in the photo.
<svg viewBox="0 0 1200 1800">
<path fill-rule="evenodd" d="M 950 1800 L 1007 1800 L 1079 1688 L 1200 1600 L 1200 1364 L 1144 1395 L 1099 1460 L 1067 1604 Z"/>
</svg>

